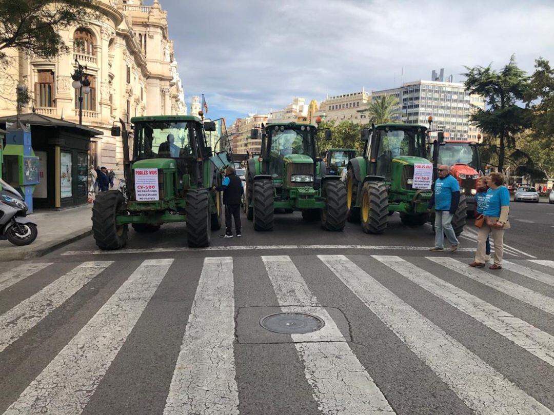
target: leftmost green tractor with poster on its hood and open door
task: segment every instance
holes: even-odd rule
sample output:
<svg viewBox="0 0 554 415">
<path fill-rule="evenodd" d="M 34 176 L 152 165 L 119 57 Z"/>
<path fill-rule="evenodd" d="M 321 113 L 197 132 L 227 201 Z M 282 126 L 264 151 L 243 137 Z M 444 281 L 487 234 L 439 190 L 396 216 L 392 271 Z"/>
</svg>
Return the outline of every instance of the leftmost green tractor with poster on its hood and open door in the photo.
<svg viewBox="0 0 554 415">
<path fill-rule="evenodd" d="M 134 124 L 132 160 L 129 137 L 122 135 L 126 194 L 111 190 L 96 196 L 93 234 L 101 249 L 119 249 L 127 242 L 127 226 L 136 232 L 156 232 L 161 224 L 186 222 L 189 247 L 206 247 L 211 230 L 222 223 L 222 195 L 212 191 L 222 181 L 221 170 L 230 164 L 226 152 L 213 155 L 207 131 L 216 124 L 197 116 L 146 116 Z"/>
</svg>

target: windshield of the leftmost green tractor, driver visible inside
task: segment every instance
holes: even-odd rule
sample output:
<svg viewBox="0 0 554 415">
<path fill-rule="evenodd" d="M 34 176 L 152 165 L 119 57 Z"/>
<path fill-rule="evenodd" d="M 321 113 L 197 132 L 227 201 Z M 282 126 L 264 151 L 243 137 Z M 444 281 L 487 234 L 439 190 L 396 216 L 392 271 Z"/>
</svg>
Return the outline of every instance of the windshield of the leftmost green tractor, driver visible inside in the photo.
<svg viewBox="0 0 554 415">
<path fill-rule="evenodd" d="M 135 125 L 135 158 L 194 157 L 197 134 L 194 122 L 149 121 Z"/>
</svg>

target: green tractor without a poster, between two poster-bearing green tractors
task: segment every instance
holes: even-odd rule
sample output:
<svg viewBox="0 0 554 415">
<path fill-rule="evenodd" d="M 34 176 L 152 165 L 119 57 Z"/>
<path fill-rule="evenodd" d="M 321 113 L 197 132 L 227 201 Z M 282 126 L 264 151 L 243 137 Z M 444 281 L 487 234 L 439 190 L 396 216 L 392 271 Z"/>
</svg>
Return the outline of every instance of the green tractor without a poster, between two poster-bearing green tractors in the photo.
<svg viewBox="0 0 554 415">
<path fill-rule="evenodd" d="M 245 206 L 255 230 L 273 229 L 275 209 L 301 211 L 305 221 L 321 221 L 326 230 L 346 224 L 346 188 L 340 177 L 326 175 L 325 163 L 316 156 L 315 125 L 275 123 L 261 127 L 260 157 L 249 158 Z M 251 139 L 259 139 L 253 129 Z"/>
</svg>

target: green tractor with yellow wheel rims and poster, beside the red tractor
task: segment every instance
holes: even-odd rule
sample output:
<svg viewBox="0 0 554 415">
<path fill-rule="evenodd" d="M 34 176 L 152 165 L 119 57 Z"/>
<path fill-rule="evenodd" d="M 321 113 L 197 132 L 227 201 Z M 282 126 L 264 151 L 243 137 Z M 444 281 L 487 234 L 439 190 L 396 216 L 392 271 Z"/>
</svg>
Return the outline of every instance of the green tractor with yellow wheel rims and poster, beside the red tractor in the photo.
<svg viewBox="0 0 554 415">
<path fill-rule="evenodd" d="M 379 124 L 362 130 L 361 135 L 363 156 L 352 158 L 347 167 L 348 221 L 361 222 L 363 231 L 373 234 L 384 232 L 394 212 L 408 226 L 428 222 L 435 166 L 429 161 L 427 127 Z M 456 235 L 465 225 L 465 211 L 462 196 L 452 222 Z"/>
</svg>

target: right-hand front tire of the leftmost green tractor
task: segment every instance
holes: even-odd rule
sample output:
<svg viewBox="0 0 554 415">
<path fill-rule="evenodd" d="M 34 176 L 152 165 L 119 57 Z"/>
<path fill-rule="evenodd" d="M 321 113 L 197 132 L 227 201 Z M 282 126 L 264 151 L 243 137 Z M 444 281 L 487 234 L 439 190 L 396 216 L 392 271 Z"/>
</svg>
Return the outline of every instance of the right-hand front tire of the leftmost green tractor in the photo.
<svg viewBox="0 0 554 415">
<path fill-rule="evenodd" d="M 185 197 L 187 243 L 191 248 L 207 247 L 210 242 L 212 214 L 209 211 L 208 189 L 189 189 Z"/>
</svg>

